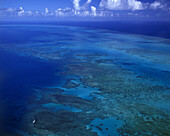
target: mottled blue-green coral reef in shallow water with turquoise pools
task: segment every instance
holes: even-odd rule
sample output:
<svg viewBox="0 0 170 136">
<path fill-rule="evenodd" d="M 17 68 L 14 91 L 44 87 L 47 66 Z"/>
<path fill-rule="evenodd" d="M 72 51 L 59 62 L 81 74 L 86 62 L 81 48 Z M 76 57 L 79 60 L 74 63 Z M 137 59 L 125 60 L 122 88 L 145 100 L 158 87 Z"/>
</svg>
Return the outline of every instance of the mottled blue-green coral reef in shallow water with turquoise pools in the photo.
<svg viewBox="0 0 170 136">
<path fill-rule="evenodd" d="M 169 135 L 169 40 L 66 26 L 48 32 L 0 47 L 61 69 L 58 84 L 31 88 L 13 126 L 38 136 Z"/>
</svg>

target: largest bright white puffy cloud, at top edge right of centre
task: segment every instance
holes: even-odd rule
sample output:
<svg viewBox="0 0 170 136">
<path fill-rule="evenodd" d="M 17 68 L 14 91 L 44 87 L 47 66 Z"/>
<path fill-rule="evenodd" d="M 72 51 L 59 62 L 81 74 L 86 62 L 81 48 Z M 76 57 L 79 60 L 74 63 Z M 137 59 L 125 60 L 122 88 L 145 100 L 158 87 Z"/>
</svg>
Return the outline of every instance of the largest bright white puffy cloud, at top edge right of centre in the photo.
<svg viewBox="0 0 170 136">
<path fill-rule="evenodd" d="M 144 5 L 138 0 L 101 0 L 100 7 L 108 10 L 142 10 Z"/>
</svg>

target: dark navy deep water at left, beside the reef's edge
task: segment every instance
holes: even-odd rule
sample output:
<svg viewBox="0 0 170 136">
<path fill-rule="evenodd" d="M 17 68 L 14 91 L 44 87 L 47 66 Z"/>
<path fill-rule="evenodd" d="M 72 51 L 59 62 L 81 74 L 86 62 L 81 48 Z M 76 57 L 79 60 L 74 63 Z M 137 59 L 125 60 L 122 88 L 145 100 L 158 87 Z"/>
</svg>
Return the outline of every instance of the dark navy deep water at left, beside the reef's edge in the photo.
<svg viewBox="0 0 170 136">
<path fill-rule="evenodd" d="M 3 76 L 0 84 L 0 126 L 8 132 L 9 120 L 15 118 L 15 123 L 19 123 L 27 113 L 28 101 L 33 94 L 31 88 L 57 85 L 61 77 L 54 73 L 60 72 L 60 68 L 54 63 L 0 50 L 0 71 Z"/>
</svg>

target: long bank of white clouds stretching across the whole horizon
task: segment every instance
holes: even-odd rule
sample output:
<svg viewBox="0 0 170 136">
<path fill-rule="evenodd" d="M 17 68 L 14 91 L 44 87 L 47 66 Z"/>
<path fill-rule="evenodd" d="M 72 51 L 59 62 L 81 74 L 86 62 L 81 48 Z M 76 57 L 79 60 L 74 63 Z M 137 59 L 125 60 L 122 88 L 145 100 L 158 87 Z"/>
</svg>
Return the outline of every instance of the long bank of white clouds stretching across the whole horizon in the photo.
<svg viewBox="0 0 170 136">
<path fill-rule="evenodd" d="M 109 19 L 122 18 L 168 18 L 170 12 L 170 2 L 166 0 L 155 0 L 154 2 L 141 2 L 139 0 L 99 0 L 100 5 L 91 5 L 92 0 L 71 0 L 74 8 L 58 8 L 56 10 L 44 11 L 24 11 L 19 8 L 3 8 L 0 9 L 0 17 L 106 17 Z M 121 10 L 121 11 L 120 11 Z M 129 10 L 129 11 L 127 11 Z M 156 16 L 157 15 L 157 16 Z"/>
</svg>

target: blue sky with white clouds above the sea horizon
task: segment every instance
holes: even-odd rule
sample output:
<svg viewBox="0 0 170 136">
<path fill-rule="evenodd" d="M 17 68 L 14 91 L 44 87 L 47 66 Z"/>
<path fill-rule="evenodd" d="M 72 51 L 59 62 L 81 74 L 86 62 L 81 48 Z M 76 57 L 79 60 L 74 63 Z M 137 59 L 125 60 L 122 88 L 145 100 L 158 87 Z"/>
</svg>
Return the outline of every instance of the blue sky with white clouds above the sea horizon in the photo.
<svg viewBox="0 0 170 136">
<path fill-rule="evenodd" d="M 170 0 L 0 0 L 0 18 L 170 20 Z"/>
</svg>

